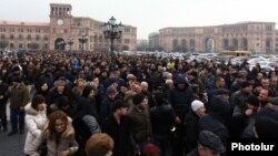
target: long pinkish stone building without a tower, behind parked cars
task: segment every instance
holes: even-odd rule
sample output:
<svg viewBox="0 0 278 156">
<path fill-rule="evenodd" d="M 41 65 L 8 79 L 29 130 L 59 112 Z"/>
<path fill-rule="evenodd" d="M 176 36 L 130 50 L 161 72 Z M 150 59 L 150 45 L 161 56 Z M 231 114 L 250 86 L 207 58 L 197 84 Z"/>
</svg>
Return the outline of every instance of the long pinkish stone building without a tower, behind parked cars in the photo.
<svg viewBox="0 0 278 156">
<path fill-rule="evenodd" d="M 278 30 L 275 22 L 163 28 L 159 30 L 159 44 L 167 52 L 221 52 L 232 49 L 278 53 Z"/>
</svg>

